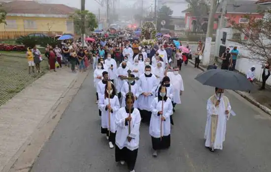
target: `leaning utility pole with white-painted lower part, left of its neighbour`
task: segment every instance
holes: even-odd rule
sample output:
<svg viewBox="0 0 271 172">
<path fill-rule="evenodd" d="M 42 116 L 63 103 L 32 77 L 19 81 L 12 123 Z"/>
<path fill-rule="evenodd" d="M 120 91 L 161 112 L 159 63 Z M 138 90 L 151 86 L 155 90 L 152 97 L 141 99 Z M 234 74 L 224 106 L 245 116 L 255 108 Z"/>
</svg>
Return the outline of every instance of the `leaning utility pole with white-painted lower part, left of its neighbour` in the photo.
<svg viewBox="0 0 271 172">
<path fill-rule="evenodd" d="M 211 0 L 211 7 L 208 19 L 208 28 L 206 33 L 205 39 L 205 46 L 203 52 L 203 66 L 209 65 L 210 55 L 211 55 L 211 42 L 212 42 L 212 35 L 213 35 L 213 23 L 214 23 L 214 16 L 217 9 L 217 0 Z"/>
</svg>

